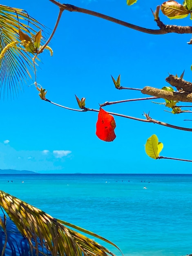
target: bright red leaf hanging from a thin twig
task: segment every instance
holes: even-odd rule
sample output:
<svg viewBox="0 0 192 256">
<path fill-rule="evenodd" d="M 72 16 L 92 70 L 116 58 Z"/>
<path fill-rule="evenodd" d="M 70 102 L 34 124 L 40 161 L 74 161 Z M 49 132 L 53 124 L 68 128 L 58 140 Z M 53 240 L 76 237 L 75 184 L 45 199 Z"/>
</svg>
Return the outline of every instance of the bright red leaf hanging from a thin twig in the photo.
<svg viewBox="0 0 192 256">
<path fill-rule="evenodd" d="M 98 120 L 96 123 L 96 135 L 104 141 L 113 141 L 116 138 L 114 129 L 116 128 L 115 120 L 105 110 L 100 108 Z"/>
</svg>

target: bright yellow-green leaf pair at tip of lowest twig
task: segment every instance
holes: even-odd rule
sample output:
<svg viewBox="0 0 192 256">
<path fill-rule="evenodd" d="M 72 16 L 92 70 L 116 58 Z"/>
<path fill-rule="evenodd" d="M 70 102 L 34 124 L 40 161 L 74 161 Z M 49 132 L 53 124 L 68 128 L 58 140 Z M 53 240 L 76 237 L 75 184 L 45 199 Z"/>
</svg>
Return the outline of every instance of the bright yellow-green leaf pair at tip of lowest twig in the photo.
<svg viewBox="0 0 192 256">
<path fill-rule="evenodd" d="M 158 142 L 158 137 L 155 134 L 147 139 L 147 142 L 145 144 L 145 152 L 149 157 L 153 159 L 158 159 L 159 153 L 162 149 L 163 143 Z"/>
</svg>

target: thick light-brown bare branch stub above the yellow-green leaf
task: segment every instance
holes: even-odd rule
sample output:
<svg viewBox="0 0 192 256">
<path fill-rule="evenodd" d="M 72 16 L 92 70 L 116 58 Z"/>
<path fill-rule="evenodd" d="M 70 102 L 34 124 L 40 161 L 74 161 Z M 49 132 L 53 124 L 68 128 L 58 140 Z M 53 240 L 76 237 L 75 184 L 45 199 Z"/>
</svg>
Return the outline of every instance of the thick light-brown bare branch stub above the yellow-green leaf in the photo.
<svg viewBox="0 0 192 256">
<path fill-rule="evenodd" d="M 145 86 L 141 92 L 143 94 L 151 95 L 162 99 L 192 102 L 192 93 L 189 92 L 167 92 L 165 90 L 157 89 L 150 86 Z"/>
</svg>

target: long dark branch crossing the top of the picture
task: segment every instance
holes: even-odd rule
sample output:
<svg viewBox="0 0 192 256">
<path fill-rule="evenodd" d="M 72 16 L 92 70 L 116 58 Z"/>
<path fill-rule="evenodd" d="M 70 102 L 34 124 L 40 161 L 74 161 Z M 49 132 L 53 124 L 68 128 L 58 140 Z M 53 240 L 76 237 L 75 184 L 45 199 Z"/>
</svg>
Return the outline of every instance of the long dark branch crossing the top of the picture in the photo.
<svg viewBox="0 0 192 256">
<path fill-rule="evenodd" d="M 178 33 L 178 34 L 192 34 L 192 27 L 190 26 L 175 26 L 175 25 L 164 25 L 163 22 L 161 24 L 161 29 L 146 29 L 144 27 L 139 27 L 136 25 L 133 25 L 131 23 L 125 22 L 123 20 L 118 20 L 116 18 L 112 18 L 110 16 L 104 15 L 102 13 L 98 13 L 96 11 L 90 11 L 87 9 L 83 9 L 80 7 L 76 7 L 72 4 L 60 4 L 59 2 L 55 1 L 55 0 L 49 0 L 52 3 L 56 4 L 58 7 L 63 8 L 67 11 L 77 11 L 80 13 L 86 13 L 92 16 L 96 16 L 98 18 L 102 18 L 105 20 L 109 20 L 111 22 L 117 23 L 119 25 L 123 25 L 125 27 L 129 27 L 131 29 L 135 29 L 137 31 L 141 31 L 147 34 L 154 34 L 154 35 L 162 35 L 162 34 L 167 34 L 167 33 Z M 160 22 L 160 20 L 159 20 Z"/>
</svg>

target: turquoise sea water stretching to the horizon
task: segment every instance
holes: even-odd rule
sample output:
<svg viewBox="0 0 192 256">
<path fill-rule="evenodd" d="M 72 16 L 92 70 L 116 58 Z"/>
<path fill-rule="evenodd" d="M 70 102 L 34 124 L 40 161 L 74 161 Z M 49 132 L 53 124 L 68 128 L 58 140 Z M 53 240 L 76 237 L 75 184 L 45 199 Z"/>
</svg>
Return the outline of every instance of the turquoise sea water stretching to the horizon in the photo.
<svg viewBox="0 0 192 256">
<path fill-rule="evenodd" d="M 192 175 L 10 174 L 0 175 L 0 189 L 104 236 L 125 256 L 192 253 Z"/>
</svg>

